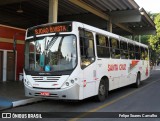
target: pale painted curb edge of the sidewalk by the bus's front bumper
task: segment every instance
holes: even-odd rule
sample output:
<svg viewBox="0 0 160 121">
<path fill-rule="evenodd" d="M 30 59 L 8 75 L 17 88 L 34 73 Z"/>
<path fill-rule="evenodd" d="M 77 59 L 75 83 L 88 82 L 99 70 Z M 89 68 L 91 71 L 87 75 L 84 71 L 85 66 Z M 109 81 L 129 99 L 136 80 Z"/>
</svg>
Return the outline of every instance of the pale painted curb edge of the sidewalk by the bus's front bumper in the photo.
<svg viewBox="0 0 160 121">
<path fill-rule="evenodd" d="M 29 103 L 34 103 L 34 102 L 38 102 L 38 101 L 42 101 L 42 100 L 44 100 L 44 99 L 42 99 L 42 98 L 30 98 L 30 99 L 18 100 L 18 101 L 12 102 L 12 107 L 26 105 L 26 104 L 29 104 Z"/>
</svg>

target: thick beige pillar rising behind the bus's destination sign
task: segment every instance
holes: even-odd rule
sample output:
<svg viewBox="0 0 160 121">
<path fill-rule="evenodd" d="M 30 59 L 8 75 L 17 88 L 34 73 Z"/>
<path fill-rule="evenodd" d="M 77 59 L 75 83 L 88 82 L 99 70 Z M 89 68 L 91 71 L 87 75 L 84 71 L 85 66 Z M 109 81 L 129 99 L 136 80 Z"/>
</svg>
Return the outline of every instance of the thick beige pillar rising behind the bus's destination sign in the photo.
<svg viewBox="0 0 160 121">
<path fill-rule="evenodd" d="M 49 0 L 49 23 L 56 23 L 58 18 L 58 0 Z"/>
</svg>

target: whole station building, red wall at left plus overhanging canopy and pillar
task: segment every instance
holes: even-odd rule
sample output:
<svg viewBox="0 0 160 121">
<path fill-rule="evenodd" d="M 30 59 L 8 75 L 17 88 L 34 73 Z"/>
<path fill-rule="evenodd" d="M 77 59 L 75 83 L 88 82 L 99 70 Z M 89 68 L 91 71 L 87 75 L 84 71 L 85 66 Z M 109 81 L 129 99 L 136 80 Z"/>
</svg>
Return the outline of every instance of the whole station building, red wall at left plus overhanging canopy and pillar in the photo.
<svg viewBox="0 0 160 121">
<path fill-rule="evenodd" d="M 1 24 L 24 28 L 0 26 L 0 80 L 3 81 L 19 79 L 24 64 L 24 35 L 19 33 L 31 26 L 79 21 L 132 39 L 156 33 L 153 20 L 134 0 L 5 0 L 0 5 Z"/>
</svg>

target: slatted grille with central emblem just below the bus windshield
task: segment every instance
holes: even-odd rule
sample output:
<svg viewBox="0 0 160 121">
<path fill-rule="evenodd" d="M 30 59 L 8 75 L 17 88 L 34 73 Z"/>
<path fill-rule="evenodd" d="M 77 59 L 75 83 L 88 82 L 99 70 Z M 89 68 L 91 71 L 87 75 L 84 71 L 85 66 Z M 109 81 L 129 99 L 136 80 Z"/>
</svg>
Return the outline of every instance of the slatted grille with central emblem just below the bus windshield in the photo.
<svg viewBox="0 0 160 121">
<path fill-rule="evenodd" d="M 57 82 L 60 76 L 32 76 L 35 82 Z"/>
</svg>

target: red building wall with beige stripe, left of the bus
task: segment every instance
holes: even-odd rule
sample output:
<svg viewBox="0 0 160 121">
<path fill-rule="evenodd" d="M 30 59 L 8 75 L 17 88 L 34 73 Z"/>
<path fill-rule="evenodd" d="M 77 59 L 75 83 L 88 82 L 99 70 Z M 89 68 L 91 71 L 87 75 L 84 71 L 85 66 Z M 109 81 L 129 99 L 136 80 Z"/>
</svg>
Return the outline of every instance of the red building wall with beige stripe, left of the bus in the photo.
<svg viewBox="0 0 160 121">
<path fill-rule="evenodd" d="M 0 25 L 0 81 L 19 80 L 24 65 L 24 38 L 24 29 Z"/>
</svg>

